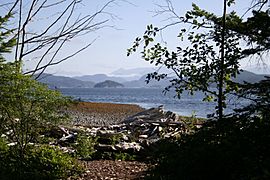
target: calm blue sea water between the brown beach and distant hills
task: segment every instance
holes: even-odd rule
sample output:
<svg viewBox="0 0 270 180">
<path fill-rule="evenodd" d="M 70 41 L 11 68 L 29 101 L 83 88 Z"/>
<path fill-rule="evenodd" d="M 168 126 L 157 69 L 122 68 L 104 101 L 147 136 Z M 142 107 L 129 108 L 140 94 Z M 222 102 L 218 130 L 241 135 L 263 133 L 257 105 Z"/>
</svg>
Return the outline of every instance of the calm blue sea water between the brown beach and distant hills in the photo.
<svg viewBox="0 0 270 180">
<path fill-rule="evenodd" d="M 87 102 L 137 104 L 144 108 L 164 105 L 165 110 L 185 116 L 206 117 L 207 114 L 214 113 L 216 106 L 214 102 L 203 102 L 202 93 L 194 96 L 184 93 L 181 99 L 177 99 L 174 98 L 173 91 L 164 95 L 163 89 L 158 88 L 64 88 L 60 91 L 66 96 Z M 243 101 L 232 97 L 228 98 L 228 103 L 225 111 L 232 112 Z"/>
</svg>

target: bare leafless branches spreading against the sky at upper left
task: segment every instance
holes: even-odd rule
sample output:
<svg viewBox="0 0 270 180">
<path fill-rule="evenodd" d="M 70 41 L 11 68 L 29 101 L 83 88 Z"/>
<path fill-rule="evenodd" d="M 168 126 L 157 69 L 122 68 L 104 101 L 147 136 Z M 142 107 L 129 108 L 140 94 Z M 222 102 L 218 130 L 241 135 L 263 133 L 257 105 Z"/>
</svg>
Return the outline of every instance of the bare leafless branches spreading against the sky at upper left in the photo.
<svg viewBox="0 0 270 180">
<path fill-rule="evenodd" d="M 115 16 L 106 9 L 116 0 L 108 0 L 92 14 L 83 14 L 79 8 L 83 0 L 15 0 L 2 2 L 3 13 L 14 18 L 6 28 L 12 28 L 12 38 L 17 40 L 14 60 L 22 64 L 31 61 L 33 69 L 24 74 L 37 74 L 38 78 L 49 66 L 66 61 L 85 50 L 95 41 L 61 55 L 61 50 L 71 40 L 85 36 L 104 27 L 111 27 L 109 21 Z M 20 69 L 21 70 L 21 69 Z"/>
</svg>

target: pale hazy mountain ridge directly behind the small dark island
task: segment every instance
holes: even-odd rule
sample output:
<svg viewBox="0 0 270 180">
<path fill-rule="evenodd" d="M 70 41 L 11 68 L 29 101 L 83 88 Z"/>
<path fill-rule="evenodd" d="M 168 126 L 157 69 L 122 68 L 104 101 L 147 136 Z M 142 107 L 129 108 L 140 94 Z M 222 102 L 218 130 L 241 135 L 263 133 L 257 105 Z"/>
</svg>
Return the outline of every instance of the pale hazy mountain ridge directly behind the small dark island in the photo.
<svg viewBox="0 0 270 180">
<path fill-rule="evenodd" d="M 106 74 L 95 74 L 95 75 L 84 75 L 84 76 L 75 76 L 74 79 L 81 80 L 81 81 L 92 81 L 94 83 L 103 82 L 106 80 L 115 81 L 115 82 L 125 82 L 125 80 L 122 77 L 114 77 L 114 76 L 108 76 Z"/>
</svg>

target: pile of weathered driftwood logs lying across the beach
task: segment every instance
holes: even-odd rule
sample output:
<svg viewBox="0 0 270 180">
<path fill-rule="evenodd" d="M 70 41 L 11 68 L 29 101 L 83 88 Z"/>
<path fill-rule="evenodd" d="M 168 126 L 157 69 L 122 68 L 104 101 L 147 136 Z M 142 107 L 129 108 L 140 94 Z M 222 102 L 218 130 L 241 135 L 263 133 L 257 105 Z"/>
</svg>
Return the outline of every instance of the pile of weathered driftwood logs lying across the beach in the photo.
<svg viewBox="0 0 270 180">
<path fill-rule="evenodd" d="M 151 108 L 131 117 L 120 124 L 107 126 L 75 126 L 69 130 L 58 128 L 61 145 L 74 141 L 76 132 L 98 137 L 98 151 L 140 151 L 163 138 L 176 138 L 186 133 L 185 124 L 178 121 L 179 116 L 163 107 Z M 54 130 L 55 131 L 55 130 Z M 60 134 L 59 134 L 60 132 Z"/>
</svg>

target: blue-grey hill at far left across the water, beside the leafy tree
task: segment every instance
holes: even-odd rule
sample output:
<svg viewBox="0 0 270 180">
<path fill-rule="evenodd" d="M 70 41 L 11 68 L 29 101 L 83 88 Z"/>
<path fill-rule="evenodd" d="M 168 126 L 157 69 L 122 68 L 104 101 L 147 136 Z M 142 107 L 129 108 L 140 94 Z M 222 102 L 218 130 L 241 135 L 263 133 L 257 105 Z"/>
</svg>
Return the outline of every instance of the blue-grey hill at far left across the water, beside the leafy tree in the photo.
<svg viewBox="0 0 270 180">
<path fill-rule="evenodd" d="M 94 83 L 90 81 L 80 81 L 70 77 L 51 74 L 42 74 L 38 81 L 47 84 L 49 88 L 91 88 L 94 86 Z"/>
</svg>

